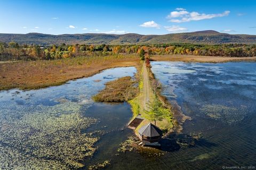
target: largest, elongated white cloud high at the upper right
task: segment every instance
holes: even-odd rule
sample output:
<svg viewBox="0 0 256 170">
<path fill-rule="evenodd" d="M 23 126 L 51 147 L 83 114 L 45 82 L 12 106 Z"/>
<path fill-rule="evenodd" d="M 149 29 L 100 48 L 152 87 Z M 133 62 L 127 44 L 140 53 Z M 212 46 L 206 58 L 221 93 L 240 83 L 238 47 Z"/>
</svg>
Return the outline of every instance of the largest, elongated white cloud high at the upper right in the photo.
<svg viewBox="0 0 256 170">
<path fill-rule="evenodd" d="M 176 9 L 177 10 L 177 9 Z M 199 21 L 205 19 L 212 19 L 222 16 L 229 15 L 230 11 L 224 11 L 223 13 L 219 14 L 205 14 L 205 13 L 198 13 L 198 12 L 188 12 L 186 10 L 182 11 L 172 11 L 168 16 L 167 19 L 170 19 L 171 22 L 189 22 L 189 21 Z"/>
</svg>

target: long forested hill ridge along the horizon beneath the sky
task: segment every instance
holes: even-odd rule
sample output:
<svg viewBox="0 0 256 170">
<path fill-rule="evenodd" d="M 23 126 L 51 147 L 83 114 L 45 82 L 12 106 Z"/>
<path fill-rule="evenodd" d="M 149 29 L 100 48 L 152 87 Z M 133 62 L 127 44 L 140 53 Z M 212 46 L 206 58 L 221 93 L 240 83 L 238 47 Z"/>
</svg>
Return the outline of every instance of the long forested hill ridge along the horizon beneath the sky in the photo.
<svg viewBox="0 0 256 170">
<path fill-rule="evenodd" d="M 170 33 L 166 35 L 139 35 L 127 33 L 124 35 L 104 33 L 48 35 L 43 33 L 12 34 L 0 33 L 0 42 L 15 41 L 19 44 L 256 44 L 255 35 L 229 35 L 217 31 L 206 30 L 187 33 Z"/>
</svg>

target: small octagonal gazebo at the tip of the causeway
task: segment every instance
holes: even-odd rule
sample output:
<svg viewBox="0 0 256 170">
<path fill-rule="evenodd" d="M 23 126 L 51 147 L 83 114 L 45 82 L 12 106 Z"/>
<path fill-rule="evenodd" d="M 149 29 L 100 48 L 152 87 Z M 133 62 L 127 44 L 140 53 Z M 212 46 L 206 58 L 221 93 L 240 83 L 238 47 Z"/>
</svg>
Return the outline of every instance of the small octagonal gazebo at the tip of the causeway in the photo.
<svg viewBox="0 0 256 170">
<path fill-rule="evenodd" d="M 139 129 L 139 138 L 142 143 L 155 143 L 162 138 L 163 132 L 152 123 Z"/>
</svg>

